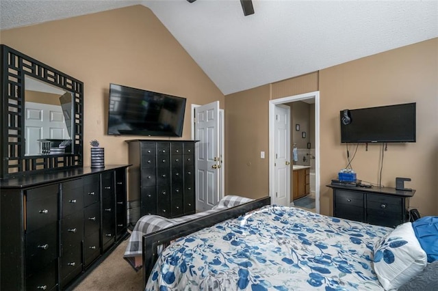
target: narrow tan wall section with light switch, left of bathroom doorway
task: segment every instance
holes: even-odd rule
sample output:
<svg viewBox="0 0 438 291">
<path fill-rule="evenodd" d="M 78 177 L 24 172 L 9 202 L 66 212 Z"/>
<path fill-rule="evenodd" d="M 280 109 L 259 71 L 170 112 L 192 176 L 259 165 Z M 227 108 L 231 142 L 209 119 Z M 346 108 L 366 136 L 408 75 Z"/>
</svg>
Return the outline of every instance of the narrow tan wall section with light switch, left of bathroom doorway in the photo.
<svg viewBox="0 0 438 291">
<path fill-rule="evenodd" d="M 269 195 L 269 96 L 270 85 L 265 85 L 225 100 L 226 195 Z"/>
</svg>

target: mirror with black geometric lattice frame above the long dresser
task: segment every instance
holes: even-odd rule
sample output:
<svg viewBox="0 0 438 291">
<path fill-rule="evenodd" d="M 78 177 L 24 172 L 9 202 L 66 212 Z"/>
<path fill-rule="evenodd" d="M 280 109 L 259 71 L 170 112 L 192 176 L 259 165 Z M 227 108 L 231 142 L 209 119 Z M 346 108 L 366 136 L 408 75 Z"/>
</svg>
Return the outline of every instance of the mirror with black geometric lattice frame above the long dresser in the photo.
<svg viewBox="0 0 438 291">
<path fill-rule="evenodd" d="M 1 45 L 1 175 L 82 166 L 83 83 Z"/>
</svg>

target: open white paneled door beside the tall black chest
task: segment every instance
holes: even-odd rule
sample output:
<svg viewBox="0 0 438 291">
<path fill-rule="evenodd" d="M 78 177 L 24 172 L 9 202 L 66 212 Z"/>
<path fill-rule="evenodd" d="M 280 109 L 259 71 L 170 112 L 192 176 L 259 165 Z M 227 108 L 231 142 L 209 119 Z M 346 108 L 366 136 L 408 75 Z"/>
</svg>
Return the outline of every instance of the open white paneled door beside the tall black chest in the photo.
<svg viewBox="0 0 438 291">
<path fill-rule="evenodd" d="M 195 108 L 196 211 L 213 207 L 220 198 L 219 101 Z"/>
</svg>

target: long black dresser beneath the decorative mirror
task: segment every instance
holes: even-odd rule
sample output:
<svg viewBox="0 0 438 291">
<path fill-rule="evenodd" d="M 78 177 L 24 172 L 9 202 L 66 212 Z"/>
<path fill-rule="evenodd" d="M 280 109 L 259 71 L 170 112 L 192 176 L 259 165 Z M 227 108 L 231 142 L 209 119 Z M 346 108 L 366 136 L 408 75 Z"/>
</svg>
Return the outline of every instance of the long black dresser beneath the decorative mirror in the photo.
<svg viewBox="0 0 438 291">
<path fill-rule="evenodd" d="M 127 165 L 0 180 L 1 290 L 68 290 L 127 237 Z"/>
</svg>

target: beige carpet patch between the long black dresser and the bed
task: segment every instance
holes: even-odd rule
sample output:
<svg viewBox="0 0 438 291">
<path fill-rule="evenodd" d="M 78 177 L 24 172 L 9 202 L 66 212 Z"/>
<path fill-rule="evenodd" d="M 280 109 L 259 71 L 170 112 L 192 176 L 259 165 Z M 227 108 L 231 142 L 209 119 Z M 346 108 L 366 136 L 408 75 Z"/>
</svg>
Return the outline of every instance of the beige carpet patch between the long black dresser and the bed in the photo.
<svg viewBox="0 0 438 291">
<path fill-rule="evenodd" d="M 103 290 L 142 290 L 143 270 L 136 272 L 123 259 L 128 243 L 124 240 L 114 251 L 97 266 L 74 291 L 103 291 Z"/>
</svg>

